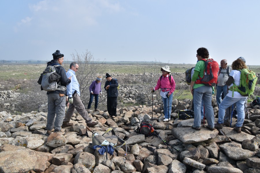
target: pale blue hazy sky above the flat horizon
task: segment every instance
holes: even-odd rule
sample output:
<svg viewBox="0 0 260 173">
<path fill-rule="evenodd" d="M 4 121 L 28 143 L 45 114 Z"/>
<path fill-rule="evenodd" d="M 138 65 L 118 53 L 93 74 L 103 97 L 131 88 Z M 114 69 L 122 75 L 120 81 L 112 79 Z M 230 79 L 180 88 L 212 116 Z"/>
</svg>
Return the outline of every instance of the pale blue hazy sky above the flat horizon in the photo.
<svg viewBox="0 0 260 173">
<path fill-rule="evenodd" d="M 195 64 L 196 50 L 260 65 L 259 0 L 1 0 L 0 60 Z"/>
</svg>

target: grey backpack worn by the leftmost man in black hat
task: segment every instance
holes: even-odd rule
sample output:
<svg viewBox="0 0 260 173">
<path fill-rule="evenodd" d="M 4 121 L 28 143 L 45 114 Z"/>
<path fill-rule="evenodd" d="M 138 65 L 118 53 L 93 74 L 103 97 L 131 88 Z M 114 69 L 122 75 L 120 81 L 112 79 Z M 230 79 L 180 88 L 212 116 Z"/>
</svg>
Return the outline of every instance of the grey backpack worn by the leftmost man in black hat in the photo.
<svg viewBox="0 0 260 173">
<path fill-rule="evenodd" d="M 58 84 L 51 80 L 51 74 L 56 73 L 55 67 L 60 65 L 49 65 L 42 73 L 41 87 L 44 91 L 56 91 Z"/>
</svg>

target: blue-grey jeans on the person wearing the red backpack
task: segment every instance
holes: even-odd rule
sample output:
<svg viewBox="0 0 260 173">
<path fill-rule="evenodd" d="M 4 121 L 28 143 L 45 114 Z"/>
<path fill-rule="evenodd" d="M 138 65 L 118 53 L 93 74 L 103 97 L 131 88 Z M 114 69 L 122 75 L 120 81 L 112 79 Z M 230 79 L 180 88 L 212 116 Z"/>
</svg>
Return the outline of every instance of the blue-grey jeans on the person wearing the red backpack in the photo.
<svg viewBox="0 0 260 173">
<path fill-rule="evenodd" d="M 214 112 L 211 105 L 212 86 L 200 86 L 193 90 L 194 102 L 194 126 L 200 127 L 201 123 L 201 102 L 204 102 L 207 123 L 209 127 L 214 127 Z"/>
</svg>

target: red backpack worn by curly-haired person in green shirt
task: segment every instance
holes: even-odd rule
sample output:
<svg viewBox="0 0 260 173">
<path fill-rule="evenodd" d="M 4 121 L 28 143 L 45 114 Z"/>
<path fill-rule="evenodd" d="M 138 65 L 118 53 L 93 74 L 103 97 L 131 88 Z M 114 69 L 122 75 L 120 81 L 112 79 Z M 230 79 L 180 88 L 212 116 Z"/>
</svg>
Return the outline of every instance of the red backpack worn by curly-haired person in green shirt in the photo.
<svg viewBox="0 0 260 173">
<path fill-rule="evenodd" d="M 216 86 L 218 81 L 219 65 L 217 61 L 213 59 L 201 59 L 205 61 L 205 71 L 201 78 L 196 80 L 196 84 L 204 84 L 206 86 Z"/>
</svg>

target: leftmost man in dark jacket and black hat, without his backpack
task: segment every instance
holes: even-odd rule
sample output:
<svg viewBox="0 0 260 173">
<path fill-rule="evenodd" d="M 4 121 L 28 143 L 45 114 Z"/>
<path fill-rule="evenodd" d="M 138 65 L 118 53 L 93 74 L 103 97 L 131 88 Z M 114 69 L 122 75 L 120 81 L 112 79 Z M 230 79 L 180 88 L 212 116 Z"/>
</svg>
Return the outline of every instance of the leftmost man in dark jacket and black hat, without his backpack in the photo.
<svg viewBox="0 0 260 173">
<path fill-rule="evenodd" d="M 59 65 L 55 67 L 56 73 L 61 76 L 57 82 L 58 87 L 56 91 L 47 91 L 48 95 L 48 114 L 47 114 L 47 134 L 51 134 L 54 124 L 54 132 L 60 132 L 62 122 L 65 116 L 66 104 L 66 86 L 70 83 L 70 78 L 67 78 L 65 69 L 61 66 L 63 63 L 64 54 L 60 50 L 56 50 L 53 54 L 53 60 L 47 63 L 50 65 Z M 55 118 L 56 114 L 56 118 Z M 54 122 L 53 122 L 54 121 Z"/>
</svg>

